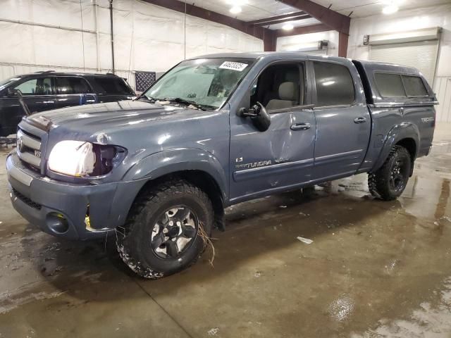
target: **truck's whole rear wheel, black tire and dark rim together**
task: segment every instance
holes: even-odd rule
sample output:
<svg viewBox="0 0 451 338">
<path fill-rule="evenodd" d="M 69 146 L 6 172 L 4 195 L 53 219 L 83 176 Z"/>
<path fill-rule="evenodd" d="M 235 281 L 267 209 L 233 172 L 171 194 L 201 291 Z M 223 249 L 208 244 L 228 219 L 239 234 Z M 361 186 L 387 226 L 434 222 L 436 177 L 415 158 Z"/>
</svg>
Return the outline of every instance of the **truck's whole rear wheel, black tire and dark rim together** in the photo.
<svg viewBox="0 0 451 338">
<path fill-rule="evenodd" d="M 384 201 L 397 199 L 407 186 L 411 166 L 409 151 L 403 146 L 393 146 L 382 167 L 369 173 L 369 191 Z"/>
</svg>

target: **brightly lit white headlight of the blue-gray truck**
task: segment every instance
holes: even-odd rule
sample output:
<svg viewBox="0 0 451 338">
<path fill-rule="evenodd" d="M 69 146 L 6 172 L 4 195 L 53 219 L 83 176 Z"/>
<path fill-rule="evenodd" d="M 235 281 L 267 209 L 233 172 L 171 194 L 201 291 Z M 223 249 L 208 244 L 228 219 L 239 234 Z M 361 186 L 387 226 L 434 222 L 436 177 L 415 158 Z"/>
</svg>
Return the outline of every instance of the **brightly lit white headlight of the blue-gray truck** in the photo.
<svg viewBox="0 0 451 338">
<path fill-rule="evenodd" d="M 92 143 L 61 141 L 51 149 L 49 169 L 70 176 L 87 176 L 94 172 L 95 162 Z"/>
</svg>

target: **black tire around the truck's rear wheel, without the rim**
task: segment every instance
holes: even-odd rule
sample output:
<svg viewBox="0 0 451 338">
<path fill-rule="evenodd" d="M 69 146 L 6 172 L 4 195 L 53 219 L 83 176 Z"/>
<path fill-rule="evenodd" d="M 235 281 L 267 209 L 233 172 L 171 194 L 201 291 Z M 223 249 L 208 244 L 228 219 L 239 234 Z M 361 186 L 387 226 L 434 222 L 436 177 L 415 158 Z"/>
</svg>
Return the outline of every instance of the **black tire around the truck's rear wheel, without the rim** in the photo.
<svg viewBox="0 0 451 338">
<path fill-rule="evenodd" d="M 404 165 L 402 169 L 404 182 L 402 189 L 395 190 L 390 187 L 390 175 L 393 165 L 400 160 Z M 409 151 L 403 146 L 393 146 L 382 167 L 376 170 L 376 172 L 368 174 L 368 187 L 371 195 L 384 201 L 397 199 L 407 186 L 412 165 L 412 158 L 410 157 Z"/>
</svg>

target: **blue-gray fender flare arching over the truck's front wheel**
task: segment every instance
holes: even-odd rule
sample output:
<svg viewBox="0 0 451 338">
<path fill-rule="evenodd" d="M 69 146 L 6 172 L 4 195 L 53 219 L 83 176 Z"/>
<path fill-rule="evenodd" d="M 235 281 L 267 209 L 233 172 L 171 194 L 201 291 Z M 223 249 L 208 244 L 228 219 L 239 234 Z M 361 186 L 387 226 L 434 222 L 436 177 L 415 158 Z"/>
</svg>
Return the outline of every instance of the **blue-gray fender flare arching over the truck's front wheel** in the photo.
<svg viewBox="0 0 451 338">
<path fill-rule="evenodd" d="M 227 176 L 218 159 L 203 149 L 171 149 L 146 156 L 125 173 L 123 181 L 154 180 L 185 170 L 200 170 L 218 184 L 223 201 L 228 200 Z"/>
</svg>

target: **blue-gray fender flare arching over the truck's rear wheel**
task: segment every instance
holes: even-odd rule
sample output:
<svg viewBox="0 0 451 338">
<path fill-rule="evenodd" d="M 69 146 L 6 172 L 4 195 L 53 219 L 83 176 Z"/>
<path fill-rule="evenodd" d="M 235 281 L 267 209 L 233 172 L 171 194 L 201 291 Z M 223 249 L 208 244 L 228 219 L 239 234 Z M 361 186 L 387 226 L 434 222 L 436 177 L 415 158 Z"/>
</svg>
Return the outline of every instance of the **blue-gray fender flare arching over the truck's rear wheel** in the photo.
<svg viewBox="0 0 451 338">
<path fill-rule="evenodd" d="M 414 158 L 412 158 L 413 162 L 416 158 L 416 155 L 419 153 L 420 138 L 421 137 L 419 129 L 414 123 L 404 122 L 400 123 L 399 125 L 395 125 L 385 137 L 381 152 L 371 171 L 374 172 L 382 167 L 383 163 L 385 163 L 385 160 L 388 157 L 388 154 L 390 154 L 390 150 L 402 139 L 413 139 L 415 142 L 416 149 L 415 156 Z"/>
</svg>

